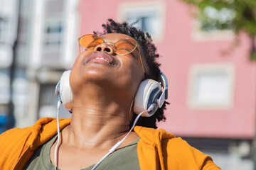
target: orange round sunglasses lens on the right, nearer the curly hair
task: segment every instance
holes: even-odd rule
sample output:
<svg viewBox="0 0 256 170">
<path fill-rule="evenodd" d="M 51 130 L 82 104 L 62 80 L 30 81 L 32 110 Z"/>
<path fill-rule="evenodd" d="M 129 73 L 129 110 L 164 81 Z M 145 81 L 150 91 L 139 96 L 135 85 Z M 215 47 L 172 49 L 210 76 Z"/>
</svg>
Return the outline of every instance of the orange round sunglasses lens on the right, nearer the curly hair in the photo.
<svg viewBox="0 0 256 170">
<path fill-rule="evenodd" d="M 119 55 L 125 55 L 132 52 L 136 46 L 137 42 L 132 38 L 126 38 L 114 43 L 114 47 L 116 47 L 115 52 Z"/>
</svg>

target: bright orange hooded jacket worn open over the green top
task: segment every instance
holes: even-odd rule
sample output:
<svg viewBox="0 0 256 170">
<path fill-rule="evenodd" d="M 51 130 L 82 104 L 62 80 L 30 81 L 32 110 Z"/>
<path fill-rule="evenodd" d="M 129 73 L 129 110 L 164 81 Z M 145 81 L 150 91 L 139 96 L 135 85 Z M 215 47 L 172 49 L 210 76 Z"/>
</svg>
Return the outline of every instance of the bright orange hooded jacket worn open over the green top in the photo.
<svg viewBox="0 0 256 170">
<path fill-rule="evenodd" d="M 71 119 L 60 119 L 60 129 Z M 212 159 L 165 130 L 136 126 L 141 139 L 137 152 L 139 166 L 153 169 L 220 169 Z M 0 135 L 0 169 L 23 169 L 33 152 L 56 135 L 55 118 L 42 118 L 28 128 L 14 128 Z"/>
</svg>

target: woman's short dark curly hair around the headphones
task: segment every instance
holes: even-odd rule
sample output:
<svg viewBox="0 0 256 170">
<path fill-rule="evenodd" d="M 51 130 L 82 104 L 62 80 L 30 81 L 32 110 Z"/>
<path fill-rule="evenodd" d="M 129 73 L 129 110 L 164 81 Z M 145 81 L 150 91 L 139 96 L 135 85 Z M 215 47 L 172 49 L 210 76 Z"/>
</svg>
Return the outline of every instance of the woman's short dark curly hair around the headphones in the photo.
<svg viewBox="0 0 256 170">
<path fill-rule="evenodd" d="M 160 65 L 156 60 L 159 58 L 159 54 L 156 52 L 156 46 L 152 42 L 151 35 L 149 33 L 144 33 L 143 30 L 135 28 L 134 23 L 129 25 L 127 22 L 118 23 L 113 19 L 108 19 L 107 23 L 102 24 L 103 32 L 95 32 L 97 35 L 105 35 L 107 33 L 122 33 L 125 35 L 129 35 L 130 37 L 137 40 L 140 47 L 143 50 L 144 57 L 146 58 L 146 63 L 148 64 L 150 71 L 145 75 L 145 79 L 154 79 L 159 81 L 160 78 Z M 141 117 L 139 118 L 137 125 L 144 126 L 146 128 L 154 128 L 156 129 L 156 120 L 160 122 L 161 120 L 166 120 L 164 116 L 164 110 L 166 110 L 166 104 L 168 102 L 164 102 L 164 105 L 159 108 L 154 115 L 151 117 Z M 133 113 L 133 118 L 130 123 L 130 127 L 134 123 L 135 118 L 137 118 L 137 114 Z"/>
</svg>

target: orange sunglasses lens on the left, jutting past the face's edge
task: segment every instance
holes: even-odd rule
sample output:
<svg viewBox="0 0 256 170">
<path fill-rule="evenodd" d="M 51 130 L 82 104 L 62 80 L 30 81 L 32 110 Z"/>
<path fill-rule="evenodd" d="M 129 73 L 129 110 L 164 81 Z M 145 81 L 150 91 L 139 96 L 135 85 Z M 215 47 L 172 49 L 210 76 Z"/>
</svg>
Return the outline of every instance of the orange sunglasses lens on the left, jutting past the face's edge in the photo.
<svg viewBox="0 0 256 170">
<path fill-rule="evenodd" d="M 100 36 L 94 34 L 83 35 L 79 39 L 80 45 L 86 50 L 94 50 L 97 45 L 100 45 L 103 42 L 104 40 Z"/>
</svg>

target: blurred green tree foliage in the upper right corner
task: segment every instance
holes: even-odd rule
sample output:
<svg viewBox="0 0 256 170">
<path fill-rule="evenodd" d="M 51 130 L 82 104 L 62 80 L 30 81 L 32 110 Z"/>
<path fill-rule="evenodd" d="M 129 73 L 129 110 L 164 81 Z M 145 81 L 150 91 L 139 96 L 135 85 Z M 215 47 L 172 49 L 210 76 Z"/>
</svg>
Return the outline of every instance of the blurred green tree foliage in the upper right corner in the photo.
<svg viewBox="0 0 256 170">
<path fill-rule="evenodd" d="M 256 60 L 256 0 L 181 0 L 198 8 L 204 31 L 233 29 L 251 38 L 251 58 Z"/>
</svg>

